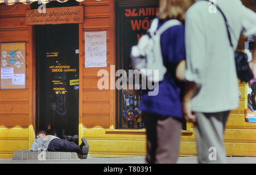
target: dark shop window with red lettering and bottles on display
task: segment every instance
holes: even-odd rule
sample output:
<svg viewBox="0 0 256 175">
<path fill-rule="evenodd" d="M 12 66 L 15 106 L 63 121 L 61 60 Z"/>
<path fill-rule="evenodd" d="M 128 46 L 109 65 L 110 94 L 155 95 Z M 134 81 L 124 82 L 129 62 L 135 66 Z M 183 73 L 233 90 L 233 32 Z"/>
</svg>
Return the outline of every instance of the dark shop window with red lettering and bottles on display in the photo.
<svg viewBox="0 0 256 175">
<path fill-rule="evenodd" d="M 127 86 L 122 86 L 127 89 L 117 90 L 117 128 L 144 128 L 139 110 L 141 83 L 135 82 L 133 72 L 129 71 L 133 70 L 130 51 L 131 47 L 137 44 L 139 38 L 150 27 L 151 20 L 158 12 L 158 3 L 158 1 L 116 1 L 116 69 L 125 70 L 127 78 Z M 133 80 L 133 83 L 130 80 Z"/>
</svg>

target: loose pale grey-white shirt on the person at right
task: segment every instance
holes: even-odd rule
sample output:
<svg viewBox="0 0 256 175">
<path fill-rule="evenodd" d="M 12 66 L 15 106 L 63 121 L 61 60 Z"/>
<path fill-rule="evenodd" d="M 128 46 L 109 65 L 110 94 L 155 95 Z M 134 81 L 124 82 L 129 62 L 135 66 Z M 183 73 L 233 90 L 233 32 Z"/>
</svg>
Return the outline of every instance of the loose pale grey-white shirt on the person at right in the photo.
<svg viewBox="0 0 256 175">
<path fill-rule="evenodd" d="M 223 112 L 239 105 L 234 50 L 240 34 L 256 35 L 256 14 L 240 0 L 217 0 L 230 25 L 230 46 L 224 18 L 206 2 L 196 2 L 186 13 L 185 79 L 201 86 L 192 99 L 194 112 Z"/>
</svg>

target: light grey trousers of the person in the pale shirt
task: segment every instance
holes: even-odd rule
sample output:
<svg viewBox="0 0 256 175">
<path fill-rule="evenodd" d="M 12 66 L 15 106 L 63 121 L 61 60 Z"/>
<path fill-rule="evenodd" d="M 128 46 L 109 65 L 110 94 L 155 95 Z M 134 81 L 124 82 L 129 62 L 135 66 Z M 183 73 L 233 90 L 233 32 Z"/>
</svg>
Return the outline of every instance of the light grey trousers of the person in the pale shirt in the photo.
<svg viewBox="0 0 256 175">
<path fill-rule="evenodd" d="M 195 113 L 196 142 L 199 163 L 226 163 L 223 143 L 227 112 Z"/>
</svg>

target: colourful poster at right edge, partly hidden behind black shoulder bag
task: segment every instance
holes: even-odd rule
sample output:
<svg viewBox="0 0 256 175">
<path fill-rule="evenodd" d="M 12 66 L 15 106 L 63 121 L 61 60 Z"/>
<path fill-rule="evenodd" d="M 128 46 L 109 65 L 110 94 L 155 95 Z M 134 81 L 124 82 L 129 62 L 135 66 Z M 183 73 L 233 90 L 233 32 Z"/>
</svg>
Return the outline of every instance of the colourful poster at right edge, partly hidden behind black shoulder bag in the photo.
<svg viewBox="0 0 256 175">
<path fill-rule="evenodd" d="M 248 41 L 245 42 L 245 53 L 248 56 L 248 61 L 251 61 L 252 54 L 251 51 L 253 49 L 253 37 L 249 37 Z M 245 122 L 256 123 L 256 103 L 255 103 L 255 95 L 256 95 L 256 79 L 252 84 L 246 84 L 246 103 L 247 107 L 245 108 Z"/>
</svg>

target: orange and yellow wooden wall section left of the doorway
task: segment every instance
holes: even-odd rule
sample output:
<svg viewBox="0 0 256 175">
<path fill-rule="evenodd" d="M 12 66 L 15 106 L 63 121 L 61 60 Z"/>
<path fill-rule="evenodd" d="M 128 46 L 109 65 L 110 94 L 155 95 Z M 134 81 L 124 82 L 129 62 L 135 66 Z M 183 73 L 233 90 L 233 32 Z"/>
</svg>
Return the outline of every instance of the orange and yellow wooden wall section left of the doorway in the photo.
<svg viewBox="0 0 256 175">
<path fill-rule="evenodd" d="M 15 7 L 15 8 L 14 8 Z M 11 8 L 14 8 L 10 11 Z M 0 42 L 26 42 L 26 89 L 0 89 L 0 158 L 30 147 L 32 125 L 32 28 L 25 25 L 26 9 L 0 5 Z M 32 133 L 32 130 L 31 130 Z"/>
</svg>

